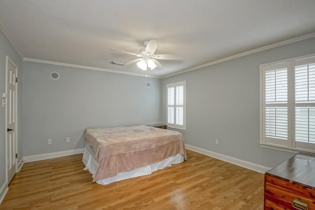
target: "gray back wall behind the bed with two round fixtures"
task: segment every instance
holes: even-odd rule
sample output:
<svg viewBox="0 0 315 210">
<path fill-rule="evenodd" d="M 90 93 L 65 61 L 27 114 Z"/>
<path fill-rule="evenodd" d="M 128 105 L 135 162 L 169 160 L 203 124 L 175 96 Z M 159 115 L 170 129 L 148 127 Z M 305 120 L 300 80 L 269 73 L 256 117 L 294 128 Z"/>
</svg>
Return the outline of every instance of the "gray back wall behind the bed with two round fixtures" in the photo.
<svg viewBox="0 0 315 210">
<path fill-rule="evenodd" d="M 24 156 L 83 148 L 87 127 L 161 121 L 159 79 L 29 61 L 23 68 Z"/>
</svg>

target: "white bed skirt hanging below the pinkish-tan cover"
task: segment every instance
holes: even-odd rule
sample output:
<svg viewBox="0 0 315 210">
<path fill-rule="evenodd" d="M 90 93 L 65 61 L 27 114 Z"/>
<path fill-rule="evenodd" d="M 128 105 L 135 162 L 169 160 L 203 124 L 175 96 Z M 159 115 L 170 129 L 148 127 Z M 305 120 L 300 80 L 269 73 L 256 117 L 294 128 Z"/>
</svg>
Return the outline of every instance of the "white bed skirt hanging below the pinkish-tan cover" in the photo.
<svg viewBox="0 0 315 210">
<path fill-rule="evenodd" d="M 86 166 L 84 170 L 89 170 L 89 172 L 94 177 L 97 169 L 97 160 L 94 158 L 94 152 L 90 149 L 89 146 L 85 145 L 82 161 Z M 109 184 L 119 180 L 126 180 L 129 178 L 140 177 L 144 175 L 150 175 L 152 172 L 155 172 L 159 169 L 163 169 L 171 166 L 172 164 L 181 163 L 184 161 L 184 156 L 182 154 L 177 154 L 175 156 L 168 157 L 160 162 L 144 166 L 138 169 L 134 169 L 128 172 L 121 172 L 114 177 L 109 177 L 103 180 L 97 180 L 98 184 Z"/>
</svg>

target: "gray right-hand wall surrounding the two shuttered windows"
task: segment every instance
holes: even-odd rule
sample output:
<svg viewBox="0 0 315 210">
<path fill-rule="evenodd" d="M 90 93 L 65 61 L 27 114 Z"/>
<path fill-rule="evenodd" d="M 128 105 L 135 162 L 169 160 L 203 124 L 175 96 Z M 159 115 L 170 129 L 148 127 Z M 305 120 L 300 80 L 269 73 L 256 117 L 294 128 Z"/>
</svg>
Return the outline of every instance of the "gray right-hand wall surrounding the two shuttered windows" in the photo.
<svg viewBox="0 0 315 210">
<path fill-rule="evenodd" d="M 294 154 L 259 146 L 259 65 L 314 53 L 311 38 L 164 78 L 163 120 L 166 84 L 186 80 L 187 144 L 274 167 Z"/>
</svg>

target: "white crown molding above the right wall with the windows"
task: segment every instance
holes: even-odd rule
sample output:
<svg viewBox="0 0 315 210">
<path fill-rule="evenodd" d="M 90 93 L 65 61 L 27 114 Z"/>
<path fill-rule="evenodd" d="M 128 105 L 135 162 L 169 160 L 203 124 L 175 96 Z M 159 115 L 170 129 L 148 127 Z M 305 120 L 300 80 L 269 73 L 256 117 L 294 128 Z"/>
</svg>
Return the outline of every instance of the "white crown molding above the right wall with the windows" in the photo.
<svg viewBox="0 0 315 210">
<path fill-rule="evenodd" d="M 247 55 L 250 55 L 250 54 L 253 54 L 253 53 L 257 53 L 257 52 L 268 50 L 268 49 L 275 48 L 275 47 L 280 47 L 282 45 L 290 44 L 290 43 L 297 42 L 297 41 L 302 41 L 304 39 L 309 39 L 309 38 L 313 38 L 313 37 L 315 37 L 315 32 L 314 33 L 310 33 L 310 34 L 306 34 L 306 35 L 303 35 L 303 36 L 299 36 L 299 37 L 296 37 L 296 38 L 284 40 L 284 41 L 281 41 L 281 42 L 277 42 L 275 44 L 271 44 L 271 45 L 267 45 L 267 46 L 264 46 L 264 47 L 260 47 L 260 48 L 257 48 L 257 49 L 254 49 L 254 50 L 250 50 L 250 51 L 247 51 L 247 52 L 244 52 L 244 53 L 240 53 L 240 54 L 237 54 L 237 55 L 234 55 L 234 56 L 230 56 L 230 57 L 227 57 L 227 58 L 224 58 L 224 59 L 215 60 L 215 61 L 212 61 L 212 62 L 209 62 L 209 63 L 198 65 L 198 66 L 195 66 L 195 67 L 192 67 L 192 68 L 189 68 L 189 69 L 185 69 L 185 70 L 182 70 L 182 71 L 178 71 L 178 72 L 175 72 L 175 73 L 172 73 L 172 74 L 167 74 L 165 76 L 161 76 L 160 78 L 167 78 L 167 77 L 175 76 L 175 75 L 178 75 L 178 74 L 183 74 L 185 72 L 189 72 L 189 71 L 200 69 L 200 68 L 203 68 L 203 67 L 206 67 L 206 66 L 218 64 L 218 63 L 221 63 L 221 62 L 224 62 L 224 61 L 227 61 L 227 60 L 240 58 L 240 57 L 247 56 Z"/>
</svg>

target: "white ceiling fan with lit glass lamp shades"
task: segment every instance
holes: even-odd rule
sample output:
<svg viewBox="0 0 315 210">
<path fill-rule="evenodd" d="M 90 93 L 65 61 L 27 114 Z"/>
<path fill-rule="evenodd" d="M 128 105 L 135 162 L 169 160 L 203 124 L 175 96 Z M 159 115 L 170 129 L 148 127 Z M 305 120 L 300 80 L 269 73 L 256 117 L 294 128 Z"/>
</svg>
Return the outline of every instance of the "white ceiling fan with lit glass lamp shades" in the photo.
<svg viewBox="0 0 315 210">
<path fill-rule="evenodd" d="M 182 59 L 179 56 L 170 55 L 170 54 L 155 55 L 154 52 L 157 50 L 158 42 L 154 39 L 151 39 L 150 41 L 143 42 L 143 45 L 145 47 L 140 49 L 139 54 L 131 53 L 131 52 L 123 51 L 123 50 L 118 50 L 118 49 L 113 49 L 113 48 L 111 48 L 111 50 L 116 50 L 116 51 L 119 51 L 121 53 L 140 57 L 139 59 L 131 60 L 131 61 L 126 62 L 126 63 L 117 63 L 117 64 L 127 65 L 130 63 L 137 62 L 137 66 L 139 68 L 141 68 L 142 70 L 147 70 L 148 67 L 151 70 L 155 69 L 156 67 L 162 68 L 162 65 L 156 59 L 160 59 L 160 60 L 181 60 Z M 112 63 L 116 63 L 116 62 L 112 61 Z"/>
</svg>

